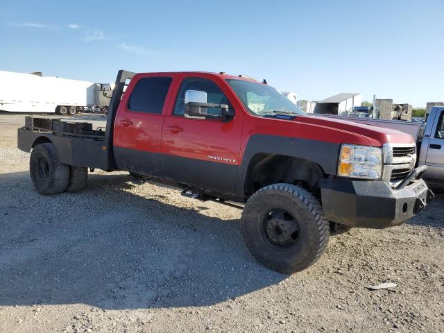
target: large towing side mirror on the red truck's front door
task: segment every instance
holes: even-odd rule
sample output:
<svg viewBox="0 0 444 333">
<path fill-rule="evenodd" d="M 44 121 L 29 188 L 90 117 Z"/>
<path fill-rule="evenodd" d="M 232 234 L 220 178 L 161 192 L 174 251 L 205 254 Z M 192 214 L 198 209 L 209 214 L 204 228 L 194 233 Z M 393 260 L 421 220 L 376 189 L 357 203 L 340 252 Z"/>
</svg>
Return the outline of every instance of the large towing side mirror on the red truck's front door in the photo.
<svg viewBox="0 0 444 333">
<path fill-rule="evenodd" d="M 219 108 L 220 112 L 208 112 L 208 108 Z M 212 118 L 228 119 L 234 116 L 234 110 L 227 104 L 207 103 L 207 93 L 198 90 L 185 92 L 185 117 L 187 118 Z"/>
</svg>

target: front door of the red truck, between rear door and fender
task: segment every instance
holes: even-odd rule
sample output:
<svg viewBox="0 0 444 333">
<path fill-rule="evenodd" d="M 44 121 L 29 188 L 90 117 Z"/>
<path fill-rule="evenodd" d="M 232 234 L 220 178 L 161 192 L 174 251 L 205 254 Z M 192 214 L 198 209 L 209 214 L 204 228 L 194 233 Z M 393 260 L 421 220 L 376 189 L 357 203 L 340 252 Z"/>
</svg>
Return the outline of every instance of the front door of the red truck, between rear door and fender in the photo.
<svg viewBox="0 0 444 333">
<path fill-rule="evenodd" d="M 162 174 L 175 182 L 230 192 L 235 188 L 244 114 L 234 110 L 234 117 L 226 120 L 185 117 L 185 93 L 190 90 L 205 92 L 207 103 L 232 108 L 234 96 L 223 84 L 205 77 L 183 78 L 162 130 Z M 207 112 L 221 112 L 211 109 Z"/>
</svg>

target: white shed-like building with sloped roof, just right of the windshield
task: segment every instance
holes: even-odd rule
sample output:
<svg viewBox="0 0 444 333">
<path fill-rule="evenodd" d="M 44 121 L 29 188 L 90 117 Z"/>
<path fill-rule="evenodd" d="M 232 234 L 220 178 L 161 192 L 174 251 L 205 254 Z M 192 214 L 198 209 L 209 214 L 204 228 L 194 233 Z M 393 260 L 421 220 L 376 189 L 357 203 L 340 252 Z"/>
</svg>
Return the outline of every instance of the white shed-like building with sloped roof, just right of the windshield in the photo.
<svg viewBox="0 0 444 333">
<path fill-rule="evenodd" d="M 343 92 L 318 101 L 314 113 L 338 114 L 348 116 L 355 106 L 361 106 L 362 95 L 359 93 Z"/>
</svg>

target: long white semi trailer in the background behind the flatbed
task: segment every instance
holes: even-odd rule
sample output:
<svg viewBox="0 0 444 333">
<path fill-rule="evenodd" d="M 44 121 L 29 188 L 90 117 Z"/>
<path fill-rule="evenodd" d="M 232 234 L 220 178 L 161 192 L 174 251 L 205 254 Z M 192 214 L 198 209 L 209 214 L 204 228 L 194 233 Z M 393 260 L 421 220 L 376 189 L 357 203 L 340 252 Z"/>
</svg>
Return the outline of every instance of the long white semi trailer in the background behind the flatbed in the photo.
<svg viewBox="0 0 444 333">
<path fill-rule="evenodd" d="M 41 74 L 0 71 L 0 111 L 76 114 L 106 110 L 111 85 Z"/>
</svg>

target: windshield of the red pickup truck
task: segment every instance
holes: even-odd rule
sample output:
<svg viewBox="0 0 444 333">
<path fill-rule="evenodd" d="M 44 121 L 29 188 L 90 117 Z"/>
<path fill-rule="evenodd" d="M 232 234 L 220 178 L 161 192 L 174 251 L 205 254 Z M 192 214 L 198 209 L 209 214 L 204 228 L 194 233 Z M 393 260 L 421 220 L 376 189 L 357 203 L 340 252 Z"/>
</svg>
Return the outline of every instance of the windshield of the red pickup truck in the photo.
<svg viewBox="0 0 444 333">
<path fill-rule="evenodd" d="M 242 103 L 254 114 L 305 114 L 298 105 L 269 85 L 228 79 Z"/>
</svg>

